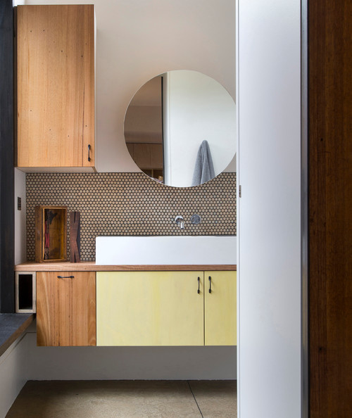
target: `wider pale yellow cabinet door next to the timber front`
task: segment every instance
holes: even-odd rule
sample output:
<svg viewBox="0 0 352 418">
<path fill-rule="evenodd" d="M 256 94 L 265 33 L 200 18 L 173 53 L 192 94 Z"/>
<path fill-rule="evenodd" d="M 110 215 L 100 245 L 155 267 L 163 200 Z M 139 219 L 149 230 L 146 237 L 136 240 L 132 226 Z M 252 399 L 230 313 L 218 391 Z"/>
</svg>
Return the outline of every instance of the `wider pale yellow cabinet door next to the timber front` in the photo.
<svg viewBox="0 0 352 418">
<path fill-rule="evenodd" d="M 203 272 L 97 272 L 97 346 L 203 343 Z"/>
</svg>

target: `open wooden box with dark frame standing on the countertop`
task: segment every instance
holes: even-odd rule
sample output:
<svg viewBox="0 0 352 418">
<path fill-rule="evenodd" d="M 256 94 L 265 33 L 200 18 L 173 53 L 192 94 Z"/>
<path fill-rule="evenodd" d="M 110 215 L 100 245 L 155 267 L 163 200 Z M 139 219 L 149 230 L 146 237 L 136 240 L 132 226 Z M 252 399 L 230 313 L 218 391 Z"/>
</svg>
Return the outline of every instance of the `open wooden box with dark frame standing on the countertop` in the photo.
<svg viewBox="0 0 352 418">
<path fill-rule="evenodd" d="M 35 207 L 35 261 L 66 260 L 66 206 Z"/>
</svg>

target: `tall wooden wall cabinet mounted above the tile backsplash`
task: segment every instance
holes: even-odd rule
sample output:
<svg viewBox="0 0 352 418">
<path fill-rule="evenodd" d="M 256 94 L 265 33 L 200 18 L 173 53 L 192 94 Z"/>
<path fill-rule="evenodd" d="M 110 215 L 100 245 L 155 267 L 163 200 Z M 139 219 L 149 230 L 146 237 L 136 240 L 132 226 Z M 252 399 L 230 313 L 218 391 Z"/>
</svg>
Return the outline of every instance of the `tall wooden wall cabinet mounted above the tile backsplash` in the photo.
<svg viewBox="0 0 352 418">
<path fill-rule="evenodd" d="M 17 167 L 94 170 L 94 5 L 17 7 Z"/>
</svg>

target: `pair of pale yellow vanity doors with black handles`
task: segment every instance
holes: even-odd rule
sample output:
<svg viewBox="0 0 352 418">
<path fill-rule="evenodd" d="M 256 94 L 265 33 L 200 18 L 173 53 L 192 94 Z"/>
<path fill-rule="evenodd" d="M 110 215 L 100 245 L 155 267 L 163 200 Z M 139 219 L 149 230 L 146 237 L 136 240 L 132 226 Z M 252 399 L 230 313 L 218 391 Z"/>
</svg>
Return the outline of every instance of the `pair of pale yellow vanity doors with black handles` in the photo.
<svg viewBox="0 0 352 418">
<path fill-rule="evenodd" d="M 236 272 L 96 274 L 97 346 L 237 344 Z"/>
</svg>

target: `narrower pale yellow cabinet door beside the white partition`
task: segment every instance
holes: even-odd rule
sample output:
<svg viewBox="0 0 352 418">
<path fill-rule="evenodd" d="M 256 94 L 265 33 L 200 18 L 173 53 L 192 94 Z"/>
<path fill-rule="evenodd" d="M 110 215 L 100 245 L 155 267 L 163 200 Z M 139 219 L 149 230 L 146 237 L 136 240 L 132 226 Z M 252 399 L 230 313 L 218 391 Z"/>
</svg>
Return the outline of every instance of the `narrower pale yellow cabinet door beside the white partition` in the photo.
<svg viewBox="0 0 352 418">
<path fill-rule="evenodd" d="M 237 345 L 236 273 L 205 272 L 204 274 L 206 346 Z"/>
</svg>

